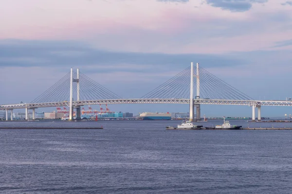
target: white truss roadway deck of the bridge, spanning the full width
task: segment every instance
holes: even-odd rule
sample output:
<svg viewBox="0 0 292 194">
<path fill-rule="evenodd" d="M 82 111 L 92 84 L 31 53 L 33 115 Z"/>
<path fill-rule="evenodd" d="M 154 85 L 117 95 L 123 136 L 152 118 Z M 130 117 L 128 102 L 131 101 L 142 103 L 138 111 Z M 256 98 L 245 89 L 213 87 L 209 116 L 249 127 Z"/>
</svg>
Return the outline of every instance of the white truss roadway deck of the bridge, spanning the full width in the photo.
<svg viewBox="0 0 292 194">
<path fill-rule="evenodd" d="M 73 107 L 94 104 L 189 104 L 190 99 L 103 99 L 73 101 Z M 248 106 L 292 106 L 292 101 L 285 100 L 225 100 L 225 99 L 194 99 L 194 104 L 248 105 Z M 24 103 L 0 105 L 1 110 L 69 106 L 68 101 L 46 103 Z"/>
</svg>

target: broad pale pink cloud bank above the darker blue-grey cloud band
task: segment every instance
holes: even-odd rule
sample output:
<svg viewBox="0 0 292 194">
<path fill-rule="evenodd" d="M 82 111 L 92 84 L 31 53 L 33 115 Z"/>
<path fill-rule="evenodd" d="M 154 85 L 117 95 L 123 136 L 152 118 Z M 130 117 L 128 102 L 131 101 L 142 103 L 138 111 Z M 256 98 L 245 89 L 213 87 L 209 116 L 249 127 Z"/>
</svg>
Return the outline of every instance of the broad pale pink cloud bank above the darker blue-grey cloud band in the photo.
<svg viewBox="0 0 292 194">
<path fill-rule="evenodd" d="M 8 6 L 0 8 L 3 11 L 0 22 L 4 22 L 0 39 L 77 39 L 111 50 L 220 53 L 268 48 L 275 41 L 289 39 L 291 34 L 290 30 L 280 30 L 281 26 L 292 24 L 290 21 L 284 24 L 269 19 L 269 13 L 282 10 L 292 16 L 291 8 L 279 6 L 274 1 L 264 7 L 256 4 L 244 13 L 200 5 L 197 1 L 181 4 L 155 0 L 76 1 L 73 5 L 66 0 L 52 0 L 53 4 L 29 1 L 31 4 L 21 5 L 23 9 L 18 6 L 15 13 L 9 12 Z M 9 22 L 1 19 L 4 15 L 12 19 Z M 266 17 L 268 15 L 270 17 Z M 251 31 L 237 31 L 240 25 L 233 25 L 241 22 Z M 262 30 L 254 32 L 258 26 Z"/>
</svg>

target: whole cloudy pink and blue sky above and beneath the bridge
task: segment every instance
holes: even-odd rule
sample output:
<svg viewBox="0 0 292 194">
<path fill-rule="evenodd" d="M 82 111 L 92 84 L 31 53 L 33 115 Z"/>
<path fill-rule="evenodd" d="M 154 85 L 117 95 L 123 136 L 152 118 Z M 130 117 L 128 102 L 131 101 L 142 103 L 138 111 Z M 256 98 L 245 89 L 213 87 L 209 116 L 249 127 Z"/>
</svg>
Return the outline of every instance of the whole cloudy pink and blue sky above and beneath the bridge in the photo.
<svg viewBox="0 0 292 194">
<path fill-rule="evenodd" d="M 0 104 L 31 102 L 71 67 L 140 98 L 191 62 L 253 99 L 292 97 L 291 0 L 1 0 L 0 24 Z M 109 108 L 188 112 L 188 105 Z M 201 113 L 251 117 L 252 109 L 202 105 Z M 261 114 L 285 113 L 292 109 Z"/>
</svg>

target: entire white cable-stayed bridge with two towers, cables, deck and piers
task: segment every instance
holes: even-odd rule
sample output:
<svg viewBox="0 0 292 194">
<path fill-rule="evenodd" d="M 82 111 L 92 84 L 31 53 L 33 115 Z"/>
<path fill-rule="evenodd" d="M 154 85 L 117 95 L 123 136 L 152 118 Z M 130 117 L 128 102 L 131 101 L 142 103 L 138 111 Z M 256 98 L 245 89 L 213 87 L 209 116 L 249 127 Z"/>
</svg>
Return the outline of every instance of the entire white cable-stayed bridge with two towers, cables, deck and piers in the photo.
<svg viewBox="0 0 292 194">
<path fill-rule="evenodd" d="M 194 86 L 196 89 L 195 97 L 193 96 Z M 292 106 L 292 101 L 288 100 L 255 100 L 201 68 L 199 64 L 194 68 L 193 63 L 191 63 L 190 67 L 173 78 L 165 81 L 143 97 L 135 99 L 124 99 L 79 72 L 79 69 L 76 72 L 71 69 L 68 74 L 32 102 L 0 105 L 0 109 L 6 110 L 6 120 L 8 120 L 8 111 L 11 112 L 12 118 L 13 109 L 25 108 L 27 119 L 28 109 L 32 109 L 34 119 L 36 108 L 69 106 L 69 120 L 72 120 L 73 109 L 76 109 L 76 117 L 80 118 L 81 106 L 83 105 L 142 103 L 190 104 L 190 120 L 195 120 L 195 108 L 196 119 L 201 119 L 201 104 L 251 106 L 253 120 L 256 119 L 256 108 L 260 120 L 261 106 Z"/>
</svg>

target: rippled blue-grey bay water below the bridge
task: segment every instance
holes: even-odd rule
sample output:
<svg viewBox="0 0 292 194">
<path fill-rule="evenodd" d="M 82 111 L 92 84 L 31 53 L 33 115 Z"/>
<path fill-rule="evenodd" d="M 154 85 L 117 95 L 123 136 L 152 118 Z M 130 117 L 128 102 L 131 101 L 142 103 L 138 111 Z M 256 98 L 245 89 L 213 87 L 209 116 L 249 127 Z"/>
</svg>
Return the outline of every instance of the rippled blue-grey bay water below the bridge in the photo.
<svg viewBox="0 0 292 194">
<path fill-rule="evenodd" d="M 13 127 L 104 127 L 0 129 L 0 193 L 292 193 L 292 130 L 164 129 L 179 123 L 0 122 Z"/>
</svg>

